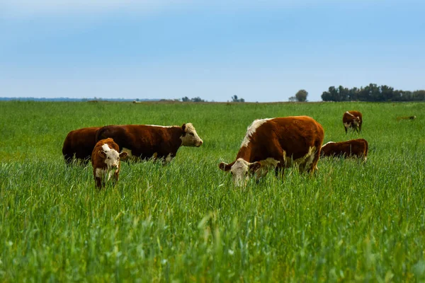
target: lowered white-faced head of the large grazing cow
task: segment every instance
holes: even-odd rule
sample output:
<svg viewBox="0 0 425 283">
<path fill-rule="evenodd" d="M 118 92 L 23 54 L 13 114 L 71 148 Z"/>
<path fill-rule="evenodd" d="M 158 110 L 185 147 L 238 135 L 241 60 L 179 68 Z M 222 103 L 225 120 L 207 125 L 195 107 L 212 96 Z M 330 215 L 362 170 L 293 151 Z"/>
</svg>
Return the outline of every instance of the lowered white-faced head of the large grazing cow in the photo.
<svg viewBox="0 0 425 283">
<path fill-rule="evenodd" d="M 230 173 L 232 173 L 234 185 L 242 187 L 246 185 L 246 182 L 248 182 L 250 173 L 255 173 L 259 170 L 261 163 L 249 163 L 248 161 L 244 161 L 242 158 L 238 158 L 237 161 L 230 164 L 222 162 L 218 167 L 222 171 L 230 171 Z"/>
</svg>

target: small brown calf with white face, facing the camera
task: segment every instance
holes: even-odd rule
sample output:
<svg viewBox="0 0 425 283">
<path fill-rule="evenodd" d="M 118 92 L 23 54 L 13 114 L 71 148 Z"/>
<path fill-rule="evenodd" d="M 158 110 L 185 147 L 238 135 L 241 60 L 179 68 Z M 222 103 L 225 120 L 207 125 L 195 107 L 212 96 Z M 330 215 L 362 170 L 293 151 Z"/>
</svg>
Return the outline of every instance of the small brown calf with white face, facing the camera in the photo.
<svg viewBox="0 0 425 283">
<path fill-rule="evenodd" d="M 118 182 L 120 174 L 120 158 L 125 158 L 127 152 L 120 152 L 118 144 L 113 139 L 101 139 L 96 143 L 91 153 L 96 187 L 101 189 L 113 175 L 114 183 Z"/>
</svg>

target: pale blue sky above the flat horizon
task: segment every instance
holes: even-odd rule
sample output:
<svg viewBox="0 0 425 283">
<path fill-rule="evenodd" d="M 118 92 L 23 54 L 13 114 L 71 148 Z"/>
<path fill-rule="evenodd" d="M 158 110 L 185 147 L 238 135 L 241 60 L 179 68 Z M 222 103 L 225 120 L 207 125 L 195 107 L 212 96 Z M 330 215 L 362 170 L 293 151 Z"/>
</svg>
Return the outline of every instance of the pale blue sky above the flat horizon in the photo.
<svg viewBox="0 0 425 283">
<path fill-rule="evenodd" d="M 0 97 L 425 89 L 424 0 L 0 0 Z"/>
</svg>

